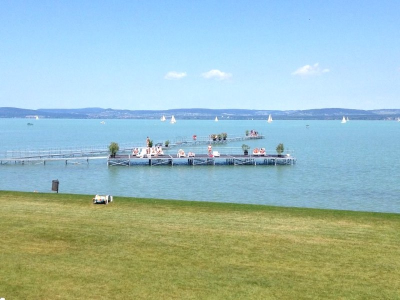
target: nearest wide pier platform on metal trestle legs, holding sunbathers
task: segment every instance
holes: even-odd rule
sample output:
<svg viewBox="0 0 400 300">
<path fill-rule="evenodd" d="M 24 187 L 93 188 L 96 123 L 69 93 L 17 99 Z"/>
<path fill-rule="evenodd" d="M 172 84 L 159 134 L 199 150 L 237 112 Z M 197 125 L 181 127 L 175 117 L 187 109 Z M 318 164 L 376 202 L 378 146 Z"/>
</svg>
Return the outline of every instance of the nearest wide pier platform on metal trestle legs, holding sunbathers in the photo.
<svg viewBox="0 0 400 300">
<path fill-rule="evenodd" d="M 199 154 L 192 157 L 176 157 L 172 155 L 157 155 L 149 157 L 139 157 L 133 155 L 116 154 L 114 157 L 108 156 L 108 165 L 294 165 L 296 158 L 286 155 L 266 154 L 266 155 L 240 155 L 240 154 L 220 154 L 210 156 Z"/>
</svg>

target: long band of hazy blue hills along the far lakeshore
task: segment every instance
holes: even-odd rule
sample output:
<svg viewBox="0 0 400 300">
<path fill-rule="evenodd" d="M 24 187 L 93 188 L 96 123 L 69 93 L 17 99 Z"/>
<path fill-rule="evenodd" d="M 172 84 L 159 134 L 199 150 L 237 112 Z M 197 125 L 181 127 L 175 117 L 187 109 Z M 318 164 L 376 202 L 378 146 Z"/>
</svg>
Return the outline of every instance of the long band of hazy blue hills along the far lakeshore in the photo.
<svg viewBox="0 0 400 300">
<path fill-rule="evenodd" d="M 305 110 L 260 110 L 260 109 L 208 109 L 177 108 L 166 110 L 128 110 L 111 108 L 41 108 L 24 109 L 0 107 L 0 118 L 84 118 L 84 119 L 160 119 L 162 115 L 176 119 L 267 119 L 269 114 L 274 120 L 334 120 L 343 115 L 353 120 L 394 120 L 400 116 L 398 109 L 348 109 L 319 108 Z"/>
</svg>

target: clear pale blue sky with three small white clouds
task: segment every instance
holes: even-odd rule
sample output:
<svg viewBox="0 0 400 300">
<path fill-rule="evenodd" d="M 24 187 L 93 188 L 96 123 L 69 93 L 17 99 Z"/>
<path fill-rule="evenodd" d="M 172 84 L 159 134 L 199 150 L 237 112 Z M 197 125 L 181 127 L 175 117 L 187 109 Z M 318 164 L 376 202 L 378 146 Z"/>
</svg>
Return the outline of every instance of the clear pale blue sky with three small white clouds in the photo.
<svg viewBox="0 0 400 300">
<path fill-rule="evenodd" d="M 0 1 L 0 106 L 400 108 L 400 1 Z"/>
</svg>

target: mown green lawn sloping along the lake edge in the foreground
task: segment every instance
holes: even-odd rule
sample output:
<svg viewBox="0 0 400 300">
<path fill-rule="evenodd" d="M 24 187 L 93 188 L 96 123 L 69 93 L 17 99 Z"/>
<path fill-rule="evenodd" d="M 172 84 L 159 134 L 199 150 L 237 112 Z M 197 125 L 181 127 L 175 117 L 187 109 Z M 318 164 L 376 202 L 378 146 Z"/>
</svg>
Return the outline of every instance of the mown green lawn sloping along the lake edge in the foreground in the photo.
<svg viewBox="0 0 400 300">
<path fill-rule="evenodd" d="M 400 214 L 0 191 L 0 297 L 398 299 Z"/>
</svg>

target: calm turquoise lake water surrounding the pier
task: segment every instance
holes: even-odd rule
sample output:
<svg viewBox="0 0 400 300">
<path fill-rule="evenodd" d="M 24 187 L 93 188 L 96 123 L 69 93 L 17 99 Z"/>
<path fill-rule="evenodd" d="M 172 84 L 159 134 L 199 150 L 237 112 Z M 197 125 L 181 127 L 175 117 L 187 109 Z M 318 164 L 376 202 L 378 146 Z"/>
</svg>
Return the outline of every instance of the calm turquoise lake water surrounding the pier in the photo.
<svg viewBox="0 0 400 300">
<path fill-rule="evenodd" d="M 27 122 L 33 122 L 27 126 Z M 307 128 L 305 125 L 308 124 Z M 279 206 L 400 212 L 400 123 L 340 120 L 100 120 L 0 119 L 0 157 L 6 150 L 145 143 L 198 138 L 211 133 L 243 135 L 255 129 L 265 139 L 245 143 L 274 152 L 282 142 L 294 150 L 294 166 L 107 166 L 89 164 L 3 164 L 0 189 L 114 196 L 228 201 Z M 241 152 L 243 142 L 213 148 Z M 196 153 L 206 146 L 184 148 Z M 269 151 L 268 151 L 269 150 Z M 175 154 L 177 148 L 170 149 Z"/>
</svg>

